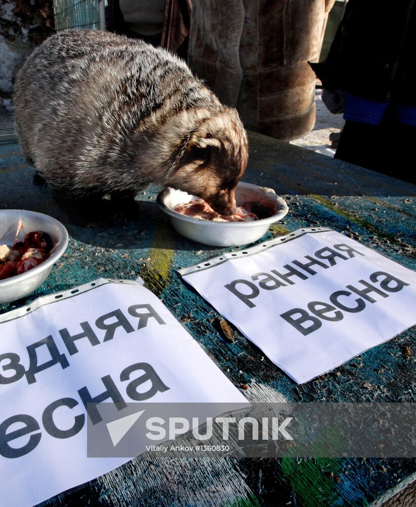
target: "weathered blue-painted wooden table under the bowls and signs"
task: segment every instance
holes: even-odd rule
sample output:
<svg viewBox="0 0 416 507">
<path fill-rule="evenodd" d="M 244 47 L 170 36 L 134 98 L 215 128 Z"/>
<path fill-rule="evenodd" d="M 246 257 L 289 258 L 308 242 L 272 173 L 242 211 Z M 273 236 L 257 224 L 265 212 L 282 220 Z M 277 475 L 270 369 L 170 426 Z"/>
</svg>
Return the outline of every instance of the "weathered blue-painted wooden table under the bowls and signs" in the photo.
<svg viewBox="0 0 416 507">
<path fill-rule="evenodd" d="M 274 188 L 289 205 L 285 220 L 272 226 L 267 238 L 301 227 L 330 227 L 414 267 L 415 186 L 259 134 L 249 137 L 244 180 Z M 233 343 L 224 340 L 219 314 L 181 281 L 179 267 L 219 250 L 173 231 L 155 203 L 157 189 L 140 195 L 136 222 L 80 228 L 70 223 L 48 188 L 32 184 L 33 169 L 18 143 L 0 144 L 0 174 L 0 208 L 50 214 L 70 235 L 65 255 L 46 282 L 27 298 L 0 306 L 1 313 L 100 276 L 140 275 L 231 382 L 248 386 L 244 394 L 252 401 L 414 402 L 414 330 L 297 385 L 238 331 L 233 331 Z M 379 505 L 414 479 L 413 459 L 138 458 L 46 504 Z"/>
</svg>

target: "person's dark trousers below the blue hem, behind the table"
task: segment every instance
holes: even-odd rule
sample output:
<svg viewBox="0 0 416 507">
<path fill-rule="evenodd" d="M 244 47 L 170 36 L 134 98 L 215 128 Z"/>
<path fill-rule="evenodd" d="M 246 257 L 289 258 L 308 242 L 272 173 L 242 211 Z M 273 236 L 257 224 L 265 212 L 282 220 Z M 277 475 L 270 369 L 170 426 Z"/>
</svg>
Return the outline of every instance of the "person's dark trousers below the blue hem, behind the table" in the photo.
<svg viewBox="0 0 416 507">
<path fill-rule="evenodd" d="M 416 126 L 346 121 L 335 158 L 416 184 Z"/>
</svg>

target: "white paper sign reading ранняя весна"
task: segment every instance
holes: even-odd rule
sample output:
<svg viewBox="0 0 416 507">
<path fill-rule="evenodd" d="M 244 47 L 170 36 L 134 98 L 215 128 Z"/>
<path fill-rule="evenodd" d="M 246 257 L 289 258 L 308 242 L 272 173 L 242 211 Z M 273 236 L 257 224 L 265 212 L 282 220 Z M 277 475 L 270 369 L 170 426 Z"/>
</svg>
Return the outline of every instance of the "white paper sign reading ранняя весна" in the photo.
<svg viewBox="0 0 416 507">
<path fill-rule="evenodd" d="M 180 273 L 298 383 L 416 323 L 416 274 L 329 229 L 296 231 Z"/>
</svg>

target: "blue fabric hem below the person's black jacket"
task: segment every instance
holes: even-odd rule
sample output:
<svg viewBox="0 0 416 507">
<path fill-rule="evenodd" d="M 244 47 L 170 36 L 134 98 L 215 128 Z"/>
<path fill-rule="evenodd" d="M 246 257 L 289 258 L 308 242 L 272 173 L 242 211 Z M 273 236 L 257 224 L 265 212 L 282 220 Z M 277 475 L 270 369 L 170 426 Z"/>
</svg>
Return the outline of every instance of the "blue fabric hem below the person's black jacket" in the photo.
<svg viewBox="0 0 416 507">
<path fill-rule="evenodd" d="M 366 123 L 367 125 L 380 125 L 386 112 L 391 119 L 403 125 L 416 126 L 416 106 L 392 105 L 390 102 L 376 102 L 357 95 L 347 94 L 345 100 L 344 120 Z"/>
</svg>

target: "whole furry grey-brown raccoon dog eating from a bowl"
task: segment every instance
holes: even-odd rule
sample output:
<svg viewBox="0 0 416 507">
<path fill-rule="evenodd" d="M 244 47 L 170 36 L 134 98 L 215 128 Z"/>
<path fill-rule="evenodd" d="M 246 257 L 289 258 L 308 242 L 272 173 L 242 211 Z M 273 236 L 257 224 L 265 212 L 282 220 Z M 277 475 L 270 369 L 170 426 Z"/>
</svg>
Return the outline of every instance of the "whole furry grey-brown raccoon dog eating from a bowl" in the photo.
<svg viewBox="0 0 416 507">
<path fill-rule="evenodd" d="M 14 104 L 22 149 L 58 194 L 115 198 L 155 183 L 233 212 L 248 157 L 238 114 L 163 49 L 59 32 L 27 58 Z"/>
</svg>

